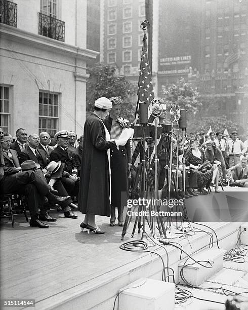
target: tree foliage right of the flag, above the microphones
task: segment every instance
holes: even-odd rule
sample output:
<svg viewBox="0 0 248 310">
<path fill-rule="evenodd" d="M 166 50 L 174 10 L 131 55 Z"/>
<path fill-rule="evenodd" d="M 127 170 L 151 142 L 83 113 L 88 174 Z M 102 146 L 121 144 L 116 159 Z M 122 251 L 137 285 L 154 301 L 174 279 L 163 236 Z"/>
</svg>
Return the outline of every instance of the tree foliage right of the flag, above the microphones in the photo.
<svg viewBox="0 0 248 310">
<path fill-rule="evenodd" d="M 163 101 L 174 102 L 180 109 L 186 109 L 187 114 L 195 114 L 201 106 L 199 93 L 191 83 L 181 78 L 176 84 L 168 85 L 162 91 Z"/>
</svg>

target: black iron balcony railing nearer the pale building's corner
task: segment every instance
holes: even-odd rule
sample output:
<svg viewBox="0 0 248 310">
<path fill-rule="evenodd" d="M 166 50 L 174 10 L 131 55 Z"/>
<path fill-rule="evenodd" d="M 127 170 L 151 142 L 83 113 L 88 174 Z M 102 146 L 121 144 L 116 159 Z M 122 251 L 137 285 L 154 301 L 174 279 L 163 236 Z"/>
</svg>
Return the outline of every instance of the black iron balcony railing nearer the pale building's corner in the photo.
<svg viewBox="0 0 248 310">
<path fill-rule="evenodd" d="M 46 14 L 38 13 L 39 34 L 65 42 L 65 22 Z"/>
</svg>

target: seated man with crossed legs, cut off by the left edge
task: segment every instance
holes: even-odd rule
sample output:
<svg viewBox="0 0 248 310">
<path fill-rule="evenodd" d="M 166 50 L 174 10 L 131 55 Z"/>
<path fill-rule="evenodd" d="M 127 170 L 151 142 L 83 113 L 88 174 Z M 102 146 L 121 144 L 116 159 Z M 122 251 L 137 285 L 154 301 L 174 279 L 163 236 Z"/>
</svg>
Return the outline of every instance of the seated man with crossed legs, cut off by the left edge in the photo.
<svg viewBox="0 0 248 310">
<path fill-rule="evenodd" d="M 53 193 L 50 192 L 51 187 L 47 184 L 41 170 L 37 173 L 31 170 L 20 172 L 14 167 L 6 166 L 2 149 L 3 142 L 4 133 L 0 128 L 0 166 L 3 168 L 4 172 L 0 178 L 0 195 L 5 195 L 7 193 L 25 195 L 31 216 L 29 222 L 30 226 L 48 228 L 49 225 L 40 220 L 51 222 L 56 221 L 56 219 L 52 218 L 44 208 L 45 197 L 52 203 L 60 205 L 66 204 L 70 198 L 53 195 Z M 38 214 L 38 209 L 40 209 L 40 214 Z"/>
</svg>

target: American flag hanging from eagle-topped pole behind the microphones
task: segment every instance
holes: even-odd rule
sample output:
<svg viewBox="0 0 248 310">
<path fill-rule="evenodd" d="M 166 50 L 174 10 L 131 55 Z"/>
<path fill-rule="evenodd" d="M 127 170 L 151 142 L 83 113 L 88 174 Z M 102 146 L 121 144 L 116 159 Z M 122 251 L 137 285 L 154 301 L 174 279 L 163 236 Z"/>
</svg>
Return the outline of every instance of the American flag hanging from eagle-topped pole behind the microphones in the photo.
<svg viewBox="0 0 248 310">
<path fill-rule="evenodd" d="M 152 124 L 155 120 L 155 117 L 150 114 L 149 105 L 151 101 L 154 99 L 154 90 L 152 84 L 152 75 L 150 71 L 150 65 L 148 61 L 147 55 L 147 44 L 146 44 L 146 34 L 143 37 L 143 47 L 142 47 L 142 54 L 141 54 L 141 61 L 140 61 L 140 70 L 139 70 L 139 82 L 138 82 L 138 103 L 139 102 L 147 102 L 147 109 L 148 109 L 148 123 Z M 137 122 L 138 118 L 136 118 Z M 140 143 L 137 141 L 133 141 L 133 154 L 132 154 L 132 164 L 137 166 L 138 162 L 140 161 Z M 148 155 L 147 144 L 145 143 L 145 150 L 146 156 Z M 154 143 L 150 145 L 150 157 L 151 163 L 154 162 L 154 154 L 155 148 Z"/>
</svg>

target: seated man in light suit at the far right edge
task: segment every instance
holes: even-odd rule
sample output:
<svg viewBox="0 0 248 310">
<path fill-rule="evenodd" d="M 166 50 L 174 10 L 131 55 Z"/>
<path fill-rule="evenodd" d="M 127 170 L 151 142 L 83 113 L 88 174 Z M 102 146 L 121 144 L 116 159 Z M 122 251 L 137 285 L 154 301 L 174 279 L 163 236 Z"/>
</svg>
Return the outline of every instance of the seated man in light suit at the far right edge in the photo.
<svg viewBox="0 0 248 310">
<path fill-rule="evenodd" d="M 241 163 L 227 169 L 230 186 L 248 187 L 247 158 L 242 158 Z"/>
</svg>

